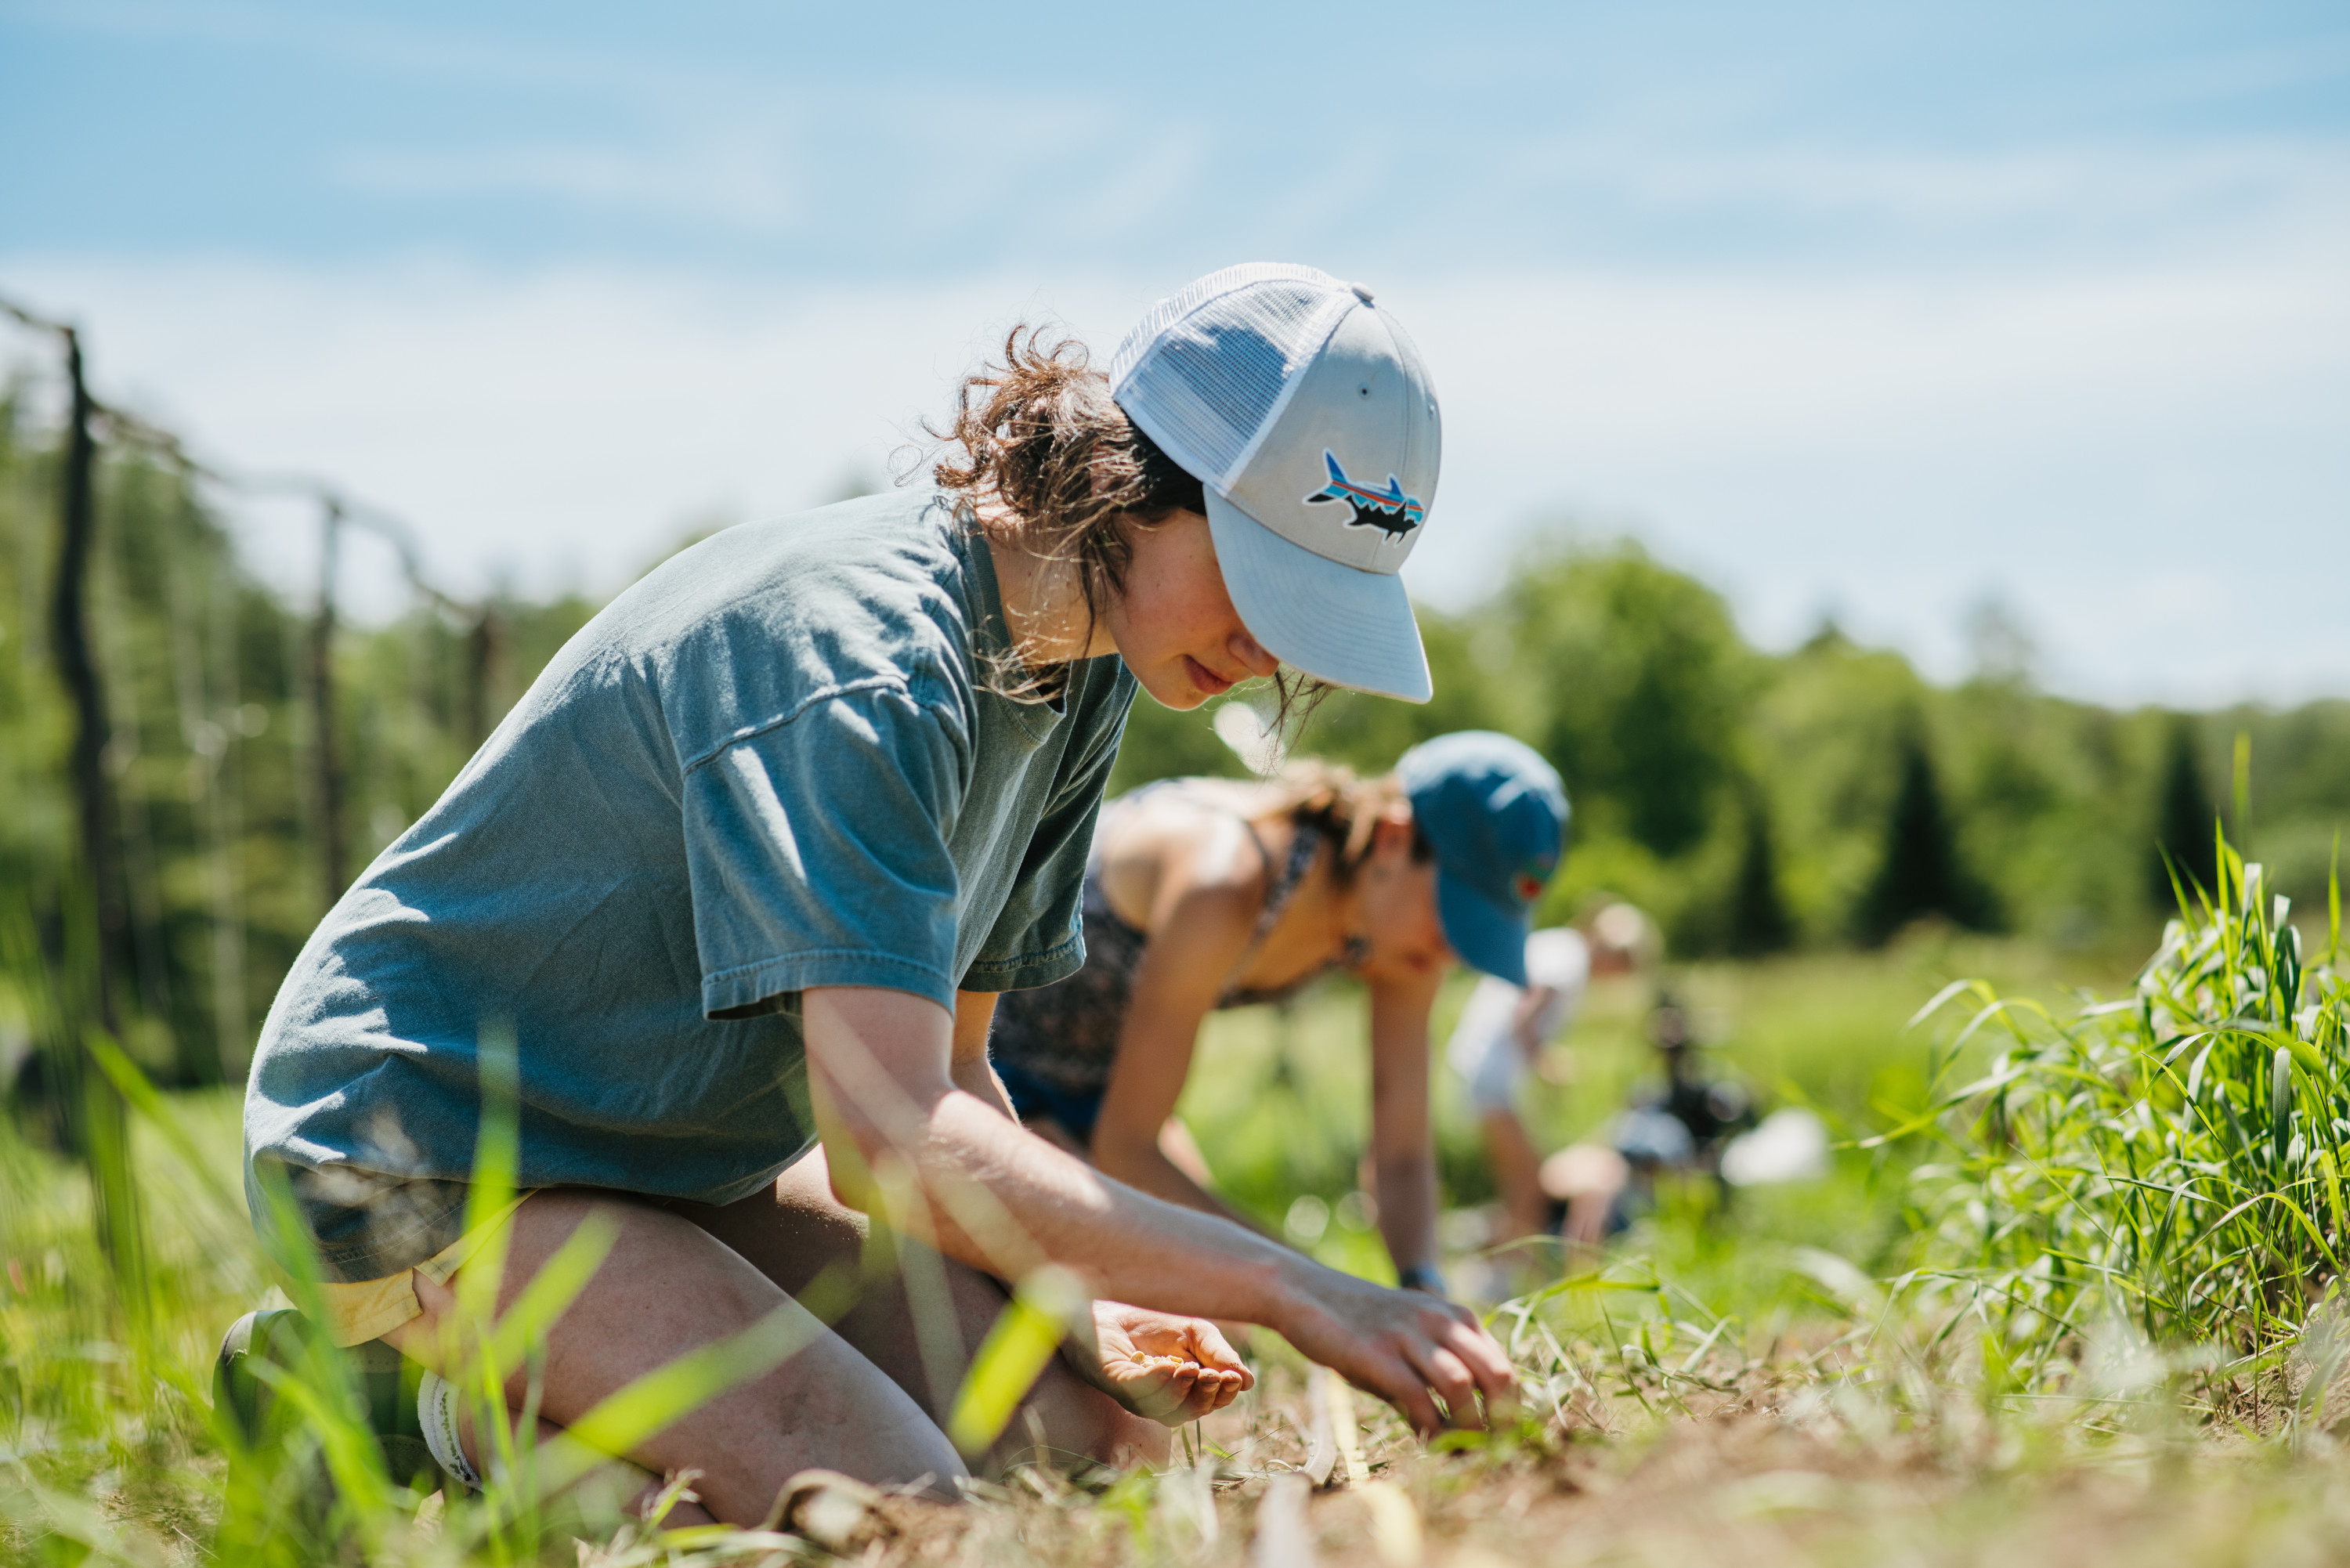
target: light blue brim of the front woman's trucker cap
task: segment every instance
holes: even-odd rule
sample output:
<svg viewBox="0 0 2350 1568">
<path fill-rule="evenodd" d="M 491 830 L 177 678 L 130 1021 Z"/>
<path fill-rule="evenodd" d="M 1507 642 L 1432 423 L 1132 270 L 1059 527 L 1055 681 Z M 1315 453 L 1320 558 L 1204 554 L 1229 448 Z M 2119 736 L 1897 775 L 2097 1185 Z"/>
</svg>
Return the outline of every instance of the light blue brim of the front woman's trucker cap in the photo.
<svg viewBox="0 0 2350 1568">
<path fill-rule="evenodd" d="M 1274 658 L 1332 686 L 1405 703 L 1434 696 L 1403 578 L 1292 545 L 1213 489 L 1208 529 L 1231 607 Z"/>
</svg>

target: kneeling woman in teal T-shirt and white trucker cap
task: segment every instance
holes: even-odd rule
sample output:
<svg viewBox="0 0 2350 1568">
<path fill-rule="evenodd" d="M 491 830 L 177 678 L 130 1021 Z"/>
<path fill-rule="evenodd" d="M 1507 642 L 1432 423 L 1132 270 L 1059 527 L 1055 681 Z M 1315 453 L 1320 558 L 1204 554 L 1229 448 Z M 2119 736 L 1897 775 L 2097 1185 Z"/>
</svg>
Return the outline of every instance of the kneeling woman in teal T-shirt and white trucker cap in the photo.
<svg viewBox="0 0 2350 1568">
<path fill-rule="evenodd" d="M 1295 388 L 1217 404 L 1264 428 L 1203 447 L 1201 378 L 1264 364 Z M 1196 708 L 1278 661 L 1426 696 L 1405 548 L 1365 552 L 1347 505 L 1309 503 L 1342 461 L 1424 508 L 1417 355 L 1365 292 L 1234 268 L 1166 301 L 1112 376 L 1015 334 L 954 435 L 938 489 L 728 529 L 623 592 L 343 893 L 254 1060 L 256 1218 L 291 1190 L 320 1333 L 456 1375 L 468 1272 L 503 1312 L 604 1215 L 611 1251 L 508 1399 L 571 1427 L 764 1324 L 799 1349 L 623 1455 L 700 1472 L 731 1523 L 818 1465 L 949 1488 L 959 1373 L 933 1352 L 1041 1265 L 1109 1298 L 1029 1399 L 1053 1448 L 1163 1453 L 1128 1410 L 1189 1420 L 1243 1387 L 1198 1319 L 1267 1324 L 1422 1429 L 1471 1420 L 1511 1368 L 1466 1312 L 1102 1178 L 1025 1133 L 987 1067 L 996 992 L 1081 961 L 1137 684 Z M 524 1197 L 468 1232 L 491 1070 Z M 794 1293 L 855 1272 L 865 1215 L 935 1246 L 942 1284 L 827 1328 Z M 484 1434 L 451 1436 L 486 1469 Z"/>
</svg>

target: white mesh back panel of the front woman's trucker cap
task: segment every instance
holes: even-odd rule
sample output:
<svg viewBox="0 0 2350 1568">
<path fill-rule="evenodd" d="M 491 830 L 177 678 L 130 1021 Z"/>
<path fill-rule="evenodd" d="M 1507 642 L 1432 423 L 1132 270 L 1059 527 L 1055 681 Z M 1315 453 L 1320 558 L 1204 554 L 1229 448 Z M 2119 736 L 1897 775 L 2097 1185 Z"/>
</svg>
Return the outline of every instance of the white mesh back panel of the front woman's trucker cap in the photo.
<svg viewBox="0 0 2350 1568">
<path fill-rule="evenodd" d="M 1159 301 L 1126 336 L 1109 362 L 1112 395 L 1170 458 L 1224 487 L 1351 303 L 1314 268 L 1224 268 Z"/>
</svg>

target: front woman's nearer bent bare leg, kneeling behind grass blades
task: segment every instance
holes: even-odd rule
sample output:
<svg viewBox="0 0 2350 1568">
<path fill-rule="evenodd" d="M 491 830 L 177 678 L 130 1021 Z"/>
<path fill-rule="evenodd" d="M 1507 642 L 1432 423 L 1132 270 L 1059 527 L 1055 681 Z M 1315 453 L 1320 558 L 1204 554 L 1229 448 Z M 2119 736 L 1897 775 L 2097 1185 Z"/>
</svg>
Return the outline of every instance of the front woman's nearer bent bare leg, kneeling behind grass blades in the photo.
<svg viewBox="0 0 2350 1568">
<path fill-rule="evenodd" d="M 806 1338 L 790 1359 L 712 1396 L 627 1458 L 653 1474 L 700 1472 L 693 1490 L 726 1523 L 757 1523 L 783 1483 L 811 1467 L 884 1486 L 928 1479 L 949 1488 L 964 1474 L 945 1432 L 841 1335 L 710 1232 L 625 1194 L 550 1190 L 522 1204 L 508 1229 L 498 1312 L 590 1211 L 618 1237 L 540 1340 L 540 1413 L 550 1422 L 571 1425 L 644 1373 L 780 1314 Z M 416 1300 L 423 1314 L 383 1338 L 437 1366 L 456 1295 L 418 1274 Z M 522 1403 L 522 1373 L 508 1399 Z"/>
</svg>

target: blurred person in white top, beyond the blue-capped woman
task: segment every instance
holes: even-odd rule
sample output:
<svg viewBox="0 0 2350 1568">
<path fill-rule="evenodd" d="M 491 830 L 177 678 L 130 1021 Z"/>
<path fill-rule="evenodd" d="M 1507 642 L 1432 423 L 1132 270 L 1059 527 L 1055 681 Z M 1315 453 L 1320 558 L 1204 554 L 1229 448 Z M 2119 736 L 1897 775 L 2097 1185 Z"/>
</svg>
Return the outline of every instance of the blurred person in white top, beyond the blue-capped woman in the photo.
<svg viewBox="0 0 2350 1568">
<path fill-rule="evenodd" d="M 1600 903 L 1584 929 L 1553 926 L 1525 938 L 1525 985 L 1485 976 L 1462 1006 L 1445 1060 L 1469 1086 L 1478 1135 L 1502 1194 L 1506 1234 L 1553 1229 L 1551 1199 L 1542 1192 L 1542 1154 L 1518 1114 L 1525 1074 L 1572 1023 L 1584 987 L 1598 976 L 1622 976 L 1652 961 L 1657 926 L 1629 903 Z"/>
</svg>

